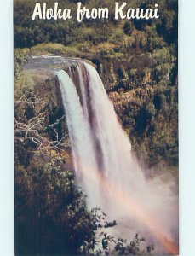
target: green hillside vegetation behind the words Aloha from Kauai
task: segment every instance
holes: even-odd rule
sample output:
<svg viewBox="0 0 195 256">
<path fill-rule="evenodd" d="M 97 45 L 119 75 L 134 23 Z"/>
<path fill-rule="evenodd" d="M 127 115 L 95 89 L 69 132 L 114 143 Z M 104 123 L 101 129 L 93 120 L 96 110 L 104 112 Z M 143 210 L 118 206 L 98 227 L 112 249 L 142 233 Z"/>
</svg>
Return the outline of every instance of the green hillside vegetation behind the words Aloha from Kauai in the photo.
<svg viewBox="0 0 195 256">
<path fill-rule="evenodd" d="M 141 7 L 146 9 L 147 7 L 153 7 L 154 3 L 158 3 L 160 18 L 157 21 L 146 20 L 114 20 L 114 3 L 115 1 L 94 1 L 86 0 L 83 3 L 88 8 L 93 7 L 109 7 L 110 15 L 109 20 L 83 20 L 82 23 L 78 23 L 76 19 L 72 20 L 33 20 L 32 13 L 37 1 L 14 1 L 14 46 L 15 47 L 32 47 L 33 45 L 53 42 L 64 45 L 89 43 L 99 44 L 100 42 L 112 42 L 118 41 L 123 38 L 123 33 L 130 35 L 134 29 L 137 31 L 146 31 L 146 27 L 154 28 L 150 38 L 147 38 L 147 42 L 135 42 L 143 44 L 145 49 L 152 49 L 153 47 L 161 47 L 158 42 L 158 36 L 163 36 L 166 42 L 174 43 L 177 38 L 177 1 L 175 0 L 161 0 L 161 1 L 141 1 L 131 0 L 128 2 L 129 7 L 137 8 Z M 47 3 L 48 7 L 54 7 L 54 1 L 40 1 L 40 3 Z M 72 9 L 72 13 L 76 12 L 77 2 L 71 0 L 58 1 L 59 7 Z M 118 1 L 123 3 L 123 1 Z M 123 28 L 123 30 L 121 30 Z M 119 31 L 120 29 L 121 31 Z M 151 32 L 148 32 L 151 33 Z M 119 44 L 122 42 L 118 42 Z"/>
</svg>

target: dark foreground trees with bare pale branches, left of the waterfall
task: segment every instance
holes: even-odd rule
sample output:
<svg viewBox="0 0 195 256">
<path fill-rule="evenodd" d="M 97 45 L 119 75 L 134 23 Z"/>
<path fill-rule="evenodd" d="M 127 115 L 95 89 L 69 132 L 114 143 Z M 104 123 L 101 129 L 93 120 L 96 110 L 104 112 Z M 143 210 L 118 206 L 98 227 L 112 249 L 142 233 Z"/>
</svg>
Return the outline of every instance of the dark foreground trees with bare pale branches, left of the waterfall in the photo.
<svg viewBox="0 0 195 256">
<path fill-rule="evenodd" d="M 87 208 L 74 173 L 65 169 L 65 138 L 59 140 L 55 130 L 61 120 L 49 125 L 42 104 L 32 91 L 14 102 L 16 255 L 94 252 L 101 243 L 101 239 L 96 241 L 96 231 L 116 222 L 106 223 L 106 214 L 99 208 Z M 49 137 L 50 129 L 54 140 Z M 106 239 L 112 241 L 111 236 Z"/>
</svg>

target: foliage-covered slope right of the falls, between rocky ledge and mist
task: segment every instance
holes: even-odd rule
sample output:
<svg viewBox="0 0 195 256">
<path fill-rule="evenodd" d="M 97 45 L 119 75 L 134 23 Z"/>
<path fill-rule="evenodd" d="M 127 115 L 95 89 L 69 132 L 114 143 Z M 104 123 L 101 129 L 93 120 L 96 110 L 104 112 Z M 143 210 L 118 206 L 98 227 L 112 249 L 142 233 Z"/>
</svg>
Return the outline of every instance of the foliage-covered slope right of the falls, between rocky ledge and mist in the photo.
<svg viewBox="0 0 195 256">
<path fill-rule="evenodd" d="M 124 99 L 115 109 L 133 147 L 138 149 L 138 156 L 149 166 L 161 160 L 177 166 L 177 87 L 157 84 L 136 88 L 131 94 L 129 101 Z"/>
</svg>

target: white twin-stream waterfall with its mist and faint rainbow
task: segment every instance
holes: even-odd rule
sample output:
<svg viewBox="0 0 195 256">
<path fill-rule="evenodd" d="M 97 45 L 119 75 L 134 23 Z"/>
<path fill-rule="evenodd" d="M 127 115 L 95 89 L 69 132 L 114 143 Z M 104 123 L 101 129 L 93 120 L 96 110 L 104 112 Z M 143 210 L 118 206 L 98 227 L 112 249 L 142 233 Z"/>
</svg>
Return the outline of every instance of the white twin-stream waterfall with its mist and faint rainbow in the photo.
<svg viewBox="0 0 195 256">
<path fill-rule="evenodd" d="M 130 241 L 139 234 L 155 244 L 158 255 L 177 255 L 173 179 L 146 179 L 94 67 L 78 62 L 57 76 L 75 172 L 88 207 L 101 207 L 109 220 L 117 220 L 113 236 Z"/>
</svg>

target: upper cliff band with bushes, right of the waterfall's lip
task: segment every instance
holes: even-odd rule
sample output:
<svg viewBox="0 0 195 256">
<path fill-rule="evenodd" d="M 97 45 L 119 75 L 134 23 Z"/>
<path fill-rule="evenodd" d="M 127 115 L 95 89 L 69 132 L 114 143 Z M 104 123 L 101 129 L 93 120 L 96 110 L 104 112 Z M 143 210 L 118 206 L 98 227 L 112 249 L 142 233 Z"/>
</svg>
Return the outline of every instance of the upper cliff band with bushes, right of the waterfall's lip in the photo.
<svg viewBox="0 0 195 256">
<path fill-rule="evenodd" d="M 106 89 L 112 89 L 114 86 L 127 87 L 131 89 L 135 86 L 146 84 L 176 84 L 177 63 L 167 49 L 159 49 L 153 53 L 139 53 L 135 55 L 132 52 L 106 55 L 96 54 L 88 55 L 90 61 L 95 63 L 97 71 L 100 74 Z"/>
</svg>

